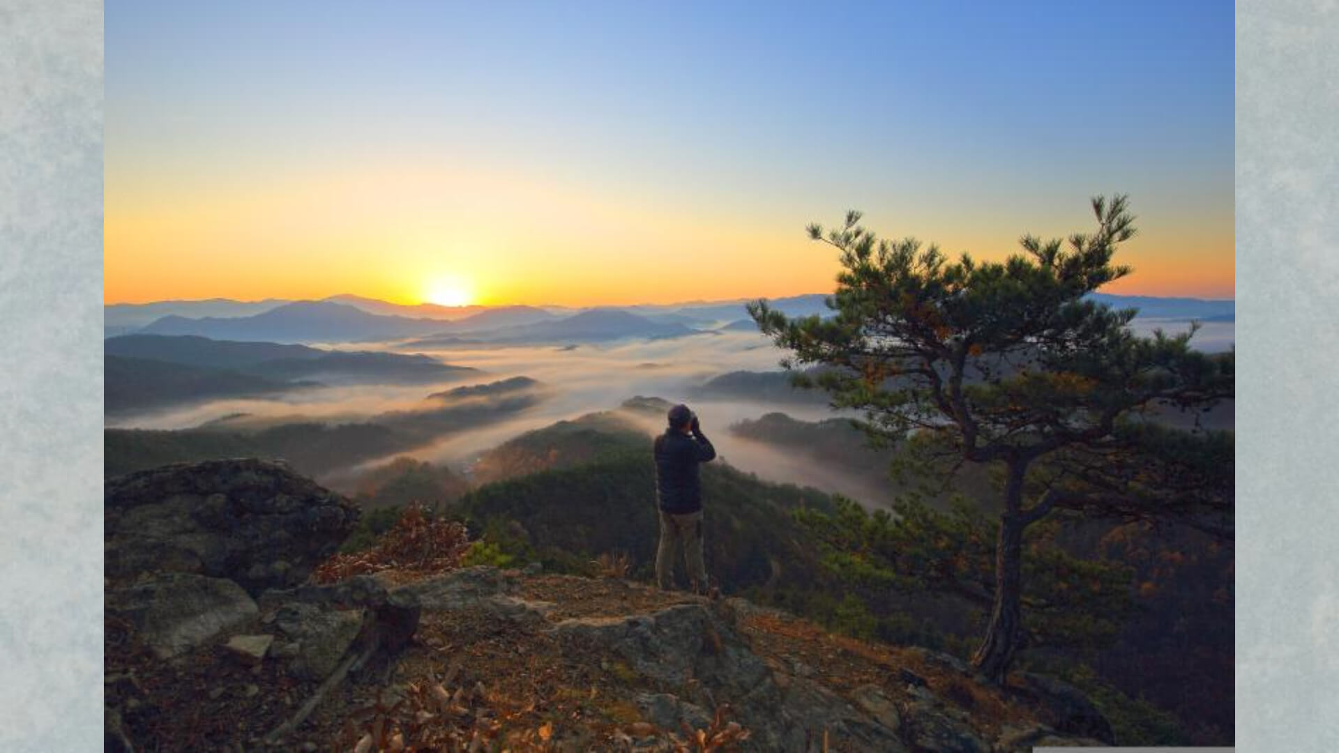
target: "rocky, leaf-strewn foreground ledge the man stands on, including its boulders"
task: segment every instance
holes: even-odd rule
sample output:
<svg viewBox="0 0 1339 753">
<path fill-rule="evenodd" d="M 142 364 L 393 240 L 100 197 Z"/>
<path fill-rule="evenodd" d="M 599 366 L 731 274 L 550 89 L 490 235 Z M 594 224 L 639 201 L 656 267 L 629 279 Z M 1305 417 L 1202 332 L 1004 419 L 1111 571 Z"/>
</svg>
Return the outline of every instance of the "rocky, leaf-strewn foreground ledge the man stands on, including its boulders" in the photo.
<svg viewBox="0 0 1339 753">
<path fill-rule="evenodd" d="M 503 665 L 507 655 L 534 657 L 536 666 L 558 657 L 548 674 L 534 671 L 560 683 L 572 663 L 584 666 L 586 677 L 613 678 L 600 691 L 601 701 L 611 703 L 601 713 L 627 720 L 624 728 L 651 730 L 644 740 L 653 745 L 648 749 L 668 749 L 661 732 L 687 728 L 695 733 L 719 728 L 724 724 L 719 720 L 749 730 L 747 750 L 995 753 L 1111 742 L 1110 725 L 1082 693 L 1043 675 L 1020 674 L 1022 685 L 1007 691 L 983 690 L 996 698 L 1007 695 L 1010 703 L 1022 699 L 1022 706 L 1035 710 L 1008 720 L 1003 729 L 999 720 L 983 724 L 972 717 L 973 706 L 955 695 L 963 687 L 968 695 L 977 693 L 971 683 L 979 678 L 947 654 L 900 650 L 896 661 L 877 659 L 870 665 L 878 667 L 876 673 L 862 666 L 860 679 L 844 686 L 849 678 L 822 666 L 832 655 L 830 644 L 822 654 L 793 651 L 794 642 L 778 651 L 778 636 L 785 632 L 759 632 L 755 618 L 767 610 L 739 599 L 668 595 L 627 581 L 613 588 L 609 580 L 491 567 L 455 569 L 404 586 L 387 586 L 402 576 L 368 575 L 336 584 L 308 583 L 308 573 L 339 547 L 356 519 L 356 508 L 337 494 L 265 461 L 175 465 L 112 480 L 106 529 L 108 618 L 158 658 L 200 658 L 191 653 L 217 650 L 212 657 L 217 666 L 242 675 L 244 682 L 234 678 L 232 689 L 214 687 L 204 702 L 218 707 L 225 698 L 238 703 L 254 698 L 249 713 L 258 703 L 269 714 L 264 736 L 242 724 L 252 730 L 246 749 L 262 737 L 296 749 L 301 741 L 293 736 L 307 734 L 304 725 L 312 721 L 305 714 L 320 705 L 323 694 L 328 694 L 325 703 L 341 703 L 347 702 L 341 682 L 384 689 L 404 651 L 414 657 L 404 663 L 422 670 L 443 658 L 437 651 L 463 657 L 489 650 L 498 651 L 491 662 Z M 588 591 L 604 595 L 592 599 Z M 549 598 L 557 603 L 538 600 Z M 573 602 L 580 608 L 573 610 Z M 415 643 L 423 612 L 438 612 L 423 628 L 437 632 Z M 442 612 L 459 614 L 442 619 Z M 450 648 L 443 624 L 457 626 Z M 118 643 L 125 653 L 133 642 Z M 197 663 L 135 663 L 135 657 L 147 654 L 135 647 L 122 659 L 143 671 L 177 667 L 186 673 L 181 687 L 198 693 L 186 671 Z M 857 654 L 857 662 L 865 659 L 869 655 Z M 498 682 L 494 666 L 471 667 L 469 681 L 458 681 L 445 706 L 420 711 L 457 714 L 462 698 L 486 702 L 485 685 Z M 530 665 L 514 670 L 532 671 Z M 145 690 L 161 685 L 141 687 L 133 673 L 110 673 L 108 678 L 116 679 L 107 686 L 106 745 L 134 749 L 130 733 L 157 729 L 161 722 L 157 711 L 146 710 L 155 701 Z M 260 686 L 266 682 L 270 697 Z M 296 698 L 288 698 L 293 687 L 311 693 L 296 711 Z M 580 690 L 585 697 L 585 687 Z M 283 706 L 279 694 L 285 697 Z M 595 698 L 592 686 L 589 699 Z M 475 720 L 470 714 L 461 718 Z M 329 720 L 323 724 L 329 730 Z M 564 744 L 590 734 L 568 732 L 573 737 L 562 738 Z M 233 733 L 232 728 L 216 730 L 229 745 L 238 740 Z"/>
</svg>

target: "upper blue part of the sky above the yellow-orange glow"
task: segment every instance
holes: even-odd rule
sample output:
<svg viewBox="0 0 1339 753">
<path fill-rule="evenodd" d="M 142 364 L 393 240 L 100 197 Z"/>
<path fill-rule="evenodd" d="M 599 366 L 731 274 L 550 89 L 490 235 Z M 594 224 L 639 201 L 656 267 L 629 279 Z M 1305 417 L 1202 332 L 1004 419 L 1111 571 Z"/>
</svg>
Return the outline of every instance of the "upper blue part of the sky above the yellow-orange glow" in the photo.
<svg viewBox="0 0 1339 753">
<path fill-rule="evenodd" d="M 1231 3 L 114 0 L 106 28 L 108 201 L 432 161 L 1003 252 L 1126 192 L 1145 234 L 1212 234 L 1231 295 Z"/>
</svg>

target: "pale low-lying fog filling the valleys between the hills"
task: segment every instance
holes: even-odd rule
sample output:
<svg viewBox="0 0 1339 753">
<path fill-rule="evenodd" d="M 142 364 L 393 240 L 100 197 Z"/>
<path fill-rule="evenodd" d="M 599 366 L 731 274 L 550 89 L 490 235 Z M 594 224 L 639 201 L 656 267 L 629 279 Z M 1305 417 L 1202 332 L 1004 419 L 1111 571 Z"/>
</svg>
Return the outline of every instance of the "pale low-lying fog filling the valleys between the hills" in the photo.
<svg viewBox="0 0 1339 753">
<path fill-rule="evenodd" d="M 1141 323 L 1137 331 L 1148 334 L 1160 326 L 1169 334 L 1186 328 L 1184 322 Z M 1210 323 L 1196 335 L 1201 350 L 1221 351 L 1231 347 L 1232 324 Z M 394 350 L 395 343 L 340 346 L 343 350 Z M 323 346 L 332 347 L 332 346 Z M 407 352 L 407 351 L 396 351 Z M 633 342 L 625 344 L 576 347 L 521 346 L 422 350 L 454 366 L 470 366 L 481 374 L 441 383 L 415 386 L 362 385 L 295 390 L 273 399 L 221 399 L 187 407 L 155 410 L 108 419 L 110 427 L 187 429 L 213 421 L 229 419 L 238 426 L 262 426 L 293 421 L 353 422 L 386 411 L 423 410 L 442 403 L 427 401 L 431 393 L 455 387 L 497 382 L 510 376 L 529 376 L 541 382 L 544 399 L 520 413 L 505 414 L 498 422 L 447 434 L 431 445 L 396 453 L 435 464 L 467 469 L 483 450 L 491 449 L 532 429 L 541 429 L 561 419 L 613 410 L 633 395 L 659 397 L 686 402 L 698 411 L 703 431 L 718 453 L 735 468 L 759 477 L 817 486 L 840 492 L 872 506 L 888 504 L 888 490 L 870 488 L 868 481 L 826 469 L 797 457 L 795 453 L 731 435 L 731 423 L 755 419 L 766 413 L 782 411 L 805 421 L 830 418 L 822 405 L 762 403 L 743 399 L 694 399 L 692 387 L 727 371 L 775 371 L 783 352 L 755 332 L 703 334 L 688 338 Z M 244 418 L 236 418 L 245 414 Z M 653 415 L 627 415 L 641 425 L 648 437 L 664 430 L 664 419 Z M 233 418 L 229 418 L 233 417 Z M 323 478 L 335 488 L 349 484 L 359 473 L 382 465 L 391 457 L 376 458 Z"/>
</svg>

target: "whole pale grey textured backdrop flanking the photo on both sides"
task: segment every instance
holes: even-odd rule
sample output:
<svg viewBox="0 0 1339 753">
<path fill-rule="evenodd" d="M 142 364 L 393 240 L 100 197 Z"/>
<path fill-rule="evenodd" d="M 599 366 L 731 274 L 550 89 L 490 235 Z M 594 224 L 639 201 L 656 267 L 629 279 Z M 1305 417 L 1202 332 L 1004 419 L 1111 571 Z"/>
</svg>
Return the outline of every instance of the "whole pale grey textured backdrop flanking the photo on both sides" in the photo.
<svg viewBox="0 0 1339 753">
<path fill-rule="evenodd" d="M 1336 39 L 1237 3 L 1239 750 L 1339 750 Z M 100 3 L 0 0 L 4 750 L 100 746 L 102 62 Z"/>
</svg>

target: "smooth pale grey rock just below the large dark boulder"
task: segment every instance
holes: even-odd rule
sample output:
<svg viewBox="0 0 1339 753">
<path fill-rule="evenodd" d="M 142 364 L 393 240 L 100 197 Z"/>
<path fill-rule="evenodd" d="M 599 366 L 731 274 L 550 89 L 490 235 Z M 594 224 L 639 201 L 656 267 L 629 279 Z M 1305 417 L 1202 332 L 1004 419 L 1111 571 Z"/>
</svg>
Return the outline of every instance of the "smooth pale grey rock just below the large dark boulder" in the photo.
<svg viewBox="0 0 1339 753">
<path fill-rule="evenodd" d="M 185 572 L 108 591 L 106 608 L 130 622 L 161 658 L 195 648 L 258 614 L 250 595 L 232 580 Z"/>
</svg>

